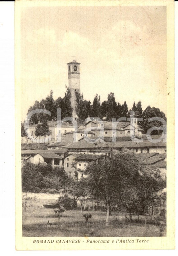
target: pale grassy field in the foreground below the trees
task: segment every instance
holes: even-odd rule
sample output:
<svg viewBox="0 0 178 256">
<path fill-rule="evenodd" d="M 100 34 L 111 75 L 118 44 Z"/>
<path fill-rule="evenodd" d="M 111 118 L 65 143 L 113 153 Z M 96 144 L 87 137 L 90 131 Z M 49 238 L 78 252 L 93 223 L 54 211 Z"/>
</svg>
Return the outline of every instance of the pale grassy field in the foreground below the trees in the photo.
<svg viewBox="0 0 178 256">
<path fill-rule="evenodd" d="M 65 211 L 55 217 L 55 209 L 30 208 L 22 211 L 23 236 L 165 236 L 165 228 L 155 224 L 144 224 L 144 217 L 133 216 L 132 223 L 126 223 L 125 216 L 112 213 L 110 225 L 105 227 L 106 213 L 90 211 L 92 218 L 86 221 L 83 212 Z M 47 225 L 47 222 L 51 225 Z"/>
</svg>

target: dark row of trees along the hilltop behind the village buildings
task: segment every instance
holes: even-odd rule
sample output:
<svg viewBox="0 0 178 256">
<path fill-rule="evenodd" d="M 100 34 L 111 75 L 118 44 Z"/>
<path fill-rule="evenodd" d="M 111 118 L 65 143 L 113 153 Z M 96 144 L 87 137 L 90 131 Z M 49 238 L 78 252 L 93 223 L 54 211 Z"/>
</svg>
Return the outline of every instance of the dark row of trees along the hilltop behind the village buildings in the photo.
<svg viewBox="0 0 178 256">
<path fill-rule="evenodd" d="M 46 97 L 46 99 L 42 99 L 40 102 L 35 101 L 34 105 L 29 107 L 28 112 L 31 112 L 34 109 L 47 109 L 51 112 L 51 117 L 49 115 L 38 113 L 32 116 L 30 123 L 37 124 L 40 122 L 44 122 L 44 120 L 57 120 L 57 108 L 61 108 L 61 119 L 65 117 L 72 116 L 72 107 L 71 107 L 71 93 L 67 88 L 65 96 L 63 98 L 58 97 L 56 100 L 53 99 L 53 91 L 50 91 L 50 95 Z M 153 126 L 162 126 L 162 123 L 159 121 L 154 121 L 149 123 L 148 119 L 151 117 L 160 117 L 166 121 L 165 114 L 160 111 L 159 108 L 147 106 L 145 110 L 142 110 L 141 101 L 139 100 L 137 103 L 133 102 L 133 106 L 128 110 L 128 106 L 126 101 L 124 104 L 117 103 L 115 100 L 114 93 L 108 94 L 107 100 L 101 103 L 100 95 L 96 94 L 93 102 L 90 100 L 85 100 L 83 98 L 83 94 L 79 94 L 76 92 L 76 113 L 78 115 L 78 122 L 82 123 L 88 116 L 90 117 L 99 117 L 105 121 L 112 121 L 112 118 L 120 118 L 120 117 L 129 117 L 130 110 L 134 110 L 135 114 L 140 118 L 143 118 L 143 121 L 139 122 L 146 132 L 149 128 Z M 46 126 L 46 123 L 45 123 Z M 22 127 L 23 129 L 23 127 Z M 156 131 L 155 134 L 160 133 L 162 131 Z M 153 132 L 154 134 L 154 132 Z M 25 134 L 22 133 L 23 136 Z"/>
</svg>

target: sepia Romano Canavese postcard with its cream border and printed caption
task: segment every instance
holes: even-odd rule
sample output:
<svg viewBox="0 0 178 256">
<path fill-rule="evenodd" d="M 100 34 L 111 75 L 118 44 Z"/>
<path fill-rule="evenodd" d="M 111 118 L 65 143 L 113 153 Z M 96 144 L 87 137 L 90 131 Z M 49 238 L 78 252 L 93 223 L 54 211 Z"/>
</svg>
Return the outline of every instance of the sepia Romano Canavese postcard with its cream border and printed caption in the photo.
<svg viewBox="0 0 178 256">
<path fill-rule="evenodd" d="M 149 249 L 172 228 L 173 1 L 140 2 L 15 2 L 16 232 L 33 250 Z"/>
</svg>

